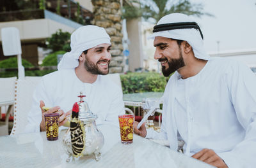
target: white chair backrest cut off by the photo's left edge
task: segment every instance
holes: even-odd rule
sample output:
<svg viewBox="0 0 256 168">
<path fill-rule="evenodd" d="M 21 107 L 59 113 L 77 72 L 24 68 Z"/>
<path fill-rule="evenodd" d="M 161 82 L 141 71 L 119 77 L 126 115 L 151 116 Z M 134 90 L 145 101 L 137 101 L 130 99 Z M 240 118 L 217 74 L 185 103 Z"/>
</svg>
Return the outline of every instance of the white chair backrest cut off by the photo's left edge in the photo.
<svg viewBox="0 0 256 168">
<path fill-rule="evenodd" d="M 0 102 L 14 101 L 16 79 L 16 76 L 11 78 L 0 78 Z"/>
</svg>

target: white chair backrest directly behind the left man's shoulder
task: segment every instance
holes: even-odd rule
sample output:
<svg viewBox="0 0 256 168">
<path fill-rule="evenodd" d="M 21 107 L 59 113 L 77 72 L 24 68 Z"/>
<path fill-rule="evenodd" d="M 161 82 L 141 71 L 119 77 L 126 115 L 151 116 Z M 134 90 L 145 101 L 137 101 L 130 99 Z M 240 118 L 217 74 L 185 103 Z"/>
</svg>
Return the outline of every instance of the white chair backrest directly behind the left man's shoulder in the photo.
<svg viewBox="0 0 256 168">
<path fill-rule="evenodd" d="M 14 120 L 11 135 L 20 134 L 24 131 L 28 123 L 28 112 L 33 99 L 33 92 L 42 77 L 26 76 L 23 80 L 15 83 L 15 105 Z"/>
</svg>

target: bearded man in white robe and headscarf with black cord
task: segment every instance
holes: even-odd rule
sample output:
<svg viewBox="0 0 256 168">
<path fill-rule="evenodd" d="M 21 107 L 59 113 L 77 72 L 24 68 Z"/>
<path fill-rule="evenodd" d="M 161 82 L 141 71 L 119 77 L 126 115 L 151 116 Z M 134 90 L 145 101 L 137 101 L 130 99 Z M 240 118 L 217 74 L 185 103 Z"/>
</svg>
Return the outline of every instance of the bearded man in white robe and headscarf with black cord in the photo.
<svg viewBox="0 0 256 168">
<path fill-rule="evenodd" d="M 166 15 L 154 27 L 154 58 L 169 76 L 163 96 L 161 132 L 142 125 L 142 137 L 168 139 L 216 167 L 256 165 L 256 78 L 232 59 L 211 58 L 204 50 L 200 27 L 182 13 Z"/>
</svg>

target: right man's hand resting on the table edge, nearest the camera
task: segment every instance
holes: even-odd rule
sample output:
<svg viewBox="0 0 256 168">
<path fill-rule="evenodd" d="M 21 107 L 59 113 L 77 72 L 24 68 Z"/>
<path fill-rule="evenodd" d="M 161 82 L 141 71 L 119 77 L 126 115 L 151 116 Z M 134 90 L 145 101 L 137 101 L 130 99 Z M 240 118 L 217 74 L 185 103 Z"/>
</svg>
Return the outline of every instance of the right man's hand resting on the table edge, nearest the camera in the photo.
<svg viewBox="0 0 256 168">
<path fill-rule="evenodd" d="M 228 168 L 225 162 L 213 150 L 205 148 L 204 150 L 195 153 L 192 157 L 218 168 Z"/>
</svg>

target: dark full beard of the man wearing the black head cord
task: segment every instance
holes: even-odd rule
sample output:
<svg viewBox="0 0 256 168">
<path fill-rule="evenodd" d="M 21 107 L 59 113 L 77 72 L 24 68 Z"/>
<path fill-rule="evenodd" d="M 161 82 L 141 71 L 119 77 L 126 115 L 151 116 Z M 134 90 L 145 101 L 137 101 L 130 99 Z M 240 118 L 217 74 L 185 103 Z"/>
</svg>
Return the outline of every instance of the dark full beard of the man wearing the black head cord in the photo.
<svg viewBox="0 0 256 168">
<path fill-rule="evenodd" d="M 174 73 L 180 67 L 185 66 L 185 63 L 184 63 L 184 60 L 183 60 L 183 57 L 182 57 L 182 53 L 179 52 L 179 54 L 180 54 L 179 59 L 170 59 L 170 61 L 167 60 L 166 58 L 165 59 L 159 59 L 159 62 L 163 61 L 163 60 L 167 60 L 168 68 L 166 69 L 166 67 L 164 67 L 164 66 L 162 67 L 162 73 L 165 77 L 170 76 L 171 73 Z"/>
</svg>

